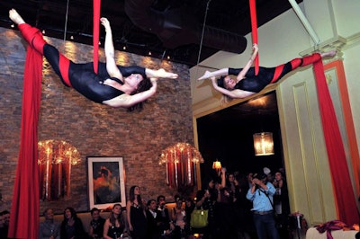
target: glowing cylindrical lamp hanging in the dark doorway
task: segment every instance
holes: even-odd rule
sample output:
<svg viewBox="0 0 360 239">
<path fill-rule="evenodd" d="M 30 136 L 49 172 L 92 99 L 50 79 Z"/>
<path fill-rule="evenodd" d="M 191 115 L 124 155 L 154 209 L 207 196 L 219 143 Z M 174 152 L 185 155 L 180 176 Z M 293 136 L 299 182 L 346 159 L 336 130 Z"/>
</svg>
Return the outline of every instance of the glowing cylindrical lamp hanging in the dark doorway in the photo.
<svg viewBox="0 0 360 239">
<path fill-rule="evenodd" d="M 254 138 L 254 149 L 256 156 L 263 155 L 274 155 L 274 140 L 273 133 L 261 132 L 255 133 Z"/>
</svg>

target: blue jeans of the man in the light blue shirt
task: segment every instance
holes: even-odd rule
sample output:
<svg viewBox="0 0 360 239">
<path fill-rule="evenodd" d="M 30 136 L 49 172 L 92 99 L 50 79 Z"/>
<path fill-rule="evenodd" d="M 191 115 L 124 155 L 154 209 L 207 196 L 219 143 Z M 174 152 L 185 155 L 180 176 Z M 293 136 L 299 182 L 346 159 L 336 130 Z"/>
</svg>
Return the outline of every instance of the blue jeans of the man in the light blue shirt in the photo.
<svg viewBox="0 0 360 239">
<path fill-rule="evenodd" d="M 254 223 L 257 229 L 258 239 L 279 239 L 279 233 L 275 226 L 275 217 L 273 213 L 266 215 L 254 214 Z M 267 236 L 266 236 L 267 235 Z"/>
</svg>

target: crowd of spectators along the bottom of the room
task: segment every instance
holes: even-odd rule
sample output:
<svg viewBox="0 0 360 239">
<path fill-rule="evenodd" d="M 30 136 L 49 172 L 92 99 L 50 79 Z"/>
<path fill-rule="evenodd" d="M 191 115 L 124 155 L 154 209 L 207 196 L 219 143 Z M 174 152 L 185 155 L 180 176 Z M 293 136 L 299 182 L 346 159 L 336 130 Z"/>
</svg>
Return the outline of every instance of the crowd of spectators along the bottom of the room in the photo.
<svg viewBox="0 0 360 239">
<path fill-rule="evenodd" d="M 52 208 L 46 208 L 40 222 L 39 238 L 131 238 L 131 239 L 278 239 L 293 238 L 289 225 L 289 200 L 284 170 L 271 173 L 228 173 L 222 168 L 202 181 L 195 197 L 175 195 L 175 207 L 166 207 L 166 197 L 142 199 L 140 188 L 130 188 L 126 207 L 116 203 L 110 214 L 90 210 L 91 221 L 84 225 L 76 210 L 67 207 L 63 220 L 54 220 Z M 208 225 L 193 228 L 195 208 L 208 211 Z M 7 238 L 10 212 L 0 213 L 0 238 Z M 87 228 L 87 230 L 85 230 Z"/>
</svg>

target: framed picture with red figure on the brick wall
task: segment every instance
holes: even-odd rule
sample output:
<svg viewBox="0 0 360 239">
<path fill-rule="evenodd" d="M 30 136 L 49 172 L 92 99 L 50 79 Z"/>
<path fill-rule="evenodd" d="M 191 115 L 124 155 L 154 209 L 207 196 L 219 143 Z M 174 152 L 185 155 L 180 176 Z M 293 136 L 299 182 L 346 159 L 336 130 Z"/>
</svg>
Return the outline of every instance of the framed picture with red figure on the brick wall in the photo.
<svg viewBox="0 0 360 239">
<path fill-rule="evenodd" d="M 125 171 L 122 157 L 87 156 L 89 207 L 126 206 Z"/>
</svg>

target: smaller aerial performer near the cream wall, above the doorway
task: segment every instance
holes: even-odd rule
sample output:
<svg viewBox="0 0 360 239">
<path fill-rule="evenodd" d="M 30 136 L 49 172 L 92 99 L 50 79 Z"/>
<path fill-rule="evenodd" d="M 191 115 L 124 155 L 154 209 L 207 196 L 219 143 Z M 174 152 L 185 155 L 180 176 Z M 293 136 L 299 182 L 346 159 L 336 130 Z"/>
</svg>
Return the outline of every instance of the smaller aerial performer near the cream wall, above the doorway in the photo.
<svg viewBox="0 0 360 239">
<path fill-rule="evenodd" d="M 217 71 L 206 71 L 198 80 L 211 78 L 212 86 L 215 90 L 225 96 L 225 102 L 230 99 L 246 98 L 254 93 L 259 93 L 267 84 L 273 84 L 280 80 L 284 75 L 293 71 L 299 66 L 308 66 L 321 58 L 333 57 L 337 54 L 335 50 L 325 53 L 314 53 L 303 58 L 294 58 L 286 64 L 275 67 L 259 67 L 259 72 L 255 74 L 252 67 L 254 59 L 257 57 L 257 44 L 253 45 L 253 53 L 244 68 L 222 68 Z M 229 75 L 237 75 L 236 79 Z M 216 77 L 220 76 L 218 80 Z"/>
</svg>

